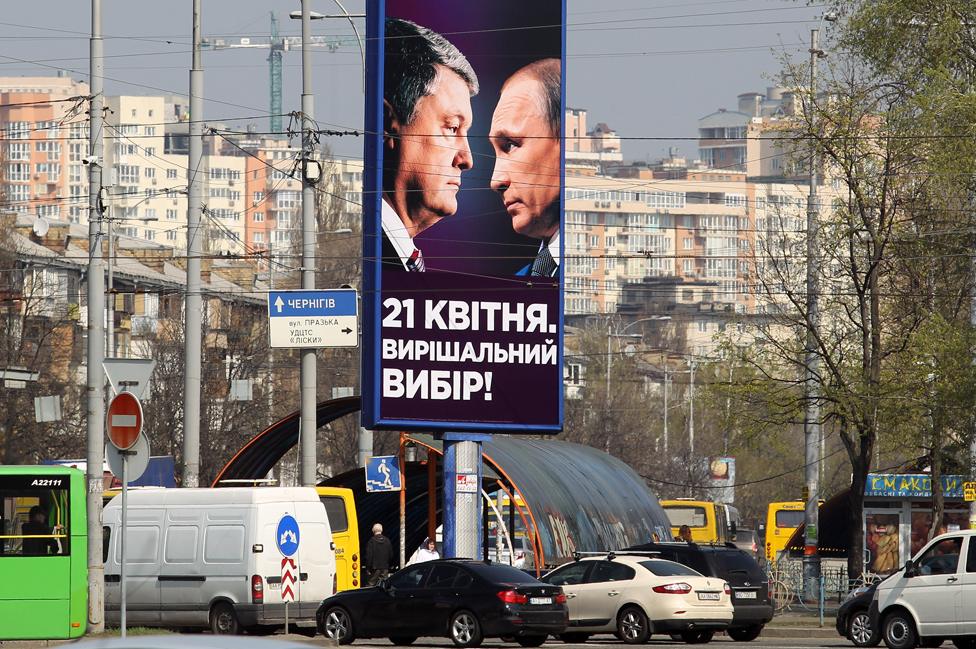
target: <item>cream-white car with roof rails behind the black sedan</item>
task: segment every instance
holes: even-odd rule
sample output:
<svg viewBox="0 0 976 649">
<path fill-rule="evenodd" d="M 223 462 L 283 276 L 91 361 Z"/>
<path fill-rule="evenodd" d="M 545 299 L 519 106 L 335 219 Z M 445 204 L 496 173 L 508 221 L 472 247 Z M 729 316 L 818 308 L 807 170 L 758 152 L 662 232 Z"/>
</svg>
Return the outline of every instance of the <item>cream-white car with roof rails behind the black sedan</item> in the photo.
<svg viewBox="0 0 976 649">
<path fill-rule="evenodd" d="M 652 633 L 676 633 L 694 644 L 708 642 L 732 621 L 728 583 L 647 554 L 580 558 L 542 581 L 566 594 L 569 626 L 561 637 L 567 642 L 614 633 L 627 644 L 642 644 Z"/>
</svg>

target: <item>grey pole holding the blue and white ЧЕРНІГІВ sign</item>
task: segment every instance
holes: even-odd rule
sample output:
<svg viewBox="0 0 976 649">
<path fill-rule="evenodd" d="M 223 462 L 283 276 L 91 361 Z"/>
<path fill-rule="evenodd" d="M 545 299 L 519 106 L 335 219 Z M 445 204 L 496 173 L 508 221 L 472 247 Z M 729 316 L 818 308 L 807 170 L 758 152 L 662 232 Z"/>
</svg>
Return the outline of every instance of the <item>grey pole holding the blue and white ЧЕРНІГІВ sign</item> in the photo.
<svg viewBox="0 0 976 649">
<path fill-rule="evenodd" d="M 302 290 L 315 289 L 315 182 L 318 181 L 318 162 L 312 160 L 312 61 L 308 47 L 312 31 L 309 4 L 302 0 Z M 301 351 L 301 483 L 314 487 L 316 480 L 316 383 L 315 349 Z"/>
</svg>

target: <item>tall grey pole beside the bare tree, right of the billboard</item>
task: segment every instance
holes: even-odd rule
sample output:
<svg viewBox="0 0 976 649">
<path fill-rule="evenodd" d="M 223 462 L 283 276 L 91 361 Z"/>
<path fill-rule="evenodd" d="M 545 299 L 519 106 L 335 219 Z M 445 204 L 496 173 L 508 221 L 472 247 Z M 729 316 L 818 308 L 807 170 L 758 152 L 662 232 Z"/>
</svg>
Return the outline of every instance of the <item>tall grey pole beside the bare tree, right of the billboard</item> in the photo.
<svg viewBox="0 0 976 649">
<path fill-rule="evenodd" d="M 824 56 L 820 49 L 820 29 L 810 30 L 810 124 L 816 123 L 817 59 Z M 807 200 L 807 331 L 806 358 L 804 359 L 804 392 L 806 412 L 803 421 L 805 481 L 803 498 L 806 500 L 803 534 L 803 591 L 810 600 L 817 599 L 820 589 L 819 504 L 817 497 L 820 482 L 820 374 L 817 331 L 820 328 L 820 257 L 819 257 L 819 198 L 817 197 L 817 143 L 810 142 L 810 196 Z"/>
</svg>

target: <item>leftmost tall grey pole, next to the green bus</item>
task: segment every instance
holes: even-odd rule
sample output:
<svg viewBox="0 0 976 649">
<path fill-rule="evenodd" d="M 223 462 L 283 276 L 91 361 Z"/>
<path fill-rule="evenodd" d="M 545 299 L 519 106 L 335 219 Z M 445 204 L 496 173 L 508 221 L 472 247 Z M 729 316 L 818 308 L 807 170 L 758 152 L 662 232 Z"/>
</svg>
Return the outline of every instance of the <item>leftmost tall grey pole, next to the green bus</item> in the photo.
<svg viewBox="0 0 976 649">
<path fill-rule="evenodd" d="M 105 631 L 105 566 L 102 564 L 102 467 L 105 464 L 105 268 L 102 265 L 102 2 L 92 0 L 89 42 L 91 102 L 88 115 L 88 630 Z"/>
</svg>

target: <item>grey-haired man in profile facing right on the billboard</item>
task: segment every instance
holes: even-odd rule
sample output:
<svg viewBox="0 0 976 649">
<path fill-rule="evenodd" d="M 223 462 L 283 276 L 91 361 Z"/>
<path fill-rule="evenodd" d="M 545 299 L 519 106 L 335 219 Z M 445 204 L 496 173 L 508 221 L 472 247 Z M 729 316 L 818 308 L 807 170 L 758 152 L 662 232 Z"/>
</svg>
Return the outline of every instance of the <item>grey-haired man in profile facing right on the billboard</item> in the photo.
<svg viewBox="0 0 976 649">
<path fill-rule="evenodd" d="M 423 271 L 413 238 L 457 212 L 478 77 L 446 38 L 386 20 L 383 81 L 383 262 Z"/>
</svg>

